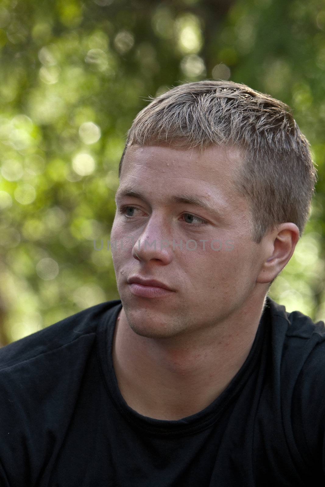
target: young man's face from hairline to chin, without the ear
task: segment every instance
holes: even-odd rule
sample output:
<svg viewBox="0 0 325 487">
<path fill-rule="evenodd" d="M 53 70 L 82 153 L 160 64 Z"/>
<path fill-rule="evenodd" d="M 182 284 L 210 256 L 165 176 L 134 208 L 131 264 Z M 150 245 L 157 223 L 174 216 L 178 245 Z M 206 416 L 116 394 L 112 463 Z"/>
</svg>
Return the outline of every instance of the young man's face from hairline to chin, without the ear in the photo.
<svg viewBox="0 0 325 487">
<path fill-rule="evenodd" d="M 251 297 L 262 253 L 250 238 L 247 200 L 233 182 L 241 163 L 234 148 L 126 150 L 111 243 L 118 292 L 137 334 L 173 337 L 204 329 Z M 135 275 L 172 291 L 136 295 L 128 283 Z"/>
</svg>

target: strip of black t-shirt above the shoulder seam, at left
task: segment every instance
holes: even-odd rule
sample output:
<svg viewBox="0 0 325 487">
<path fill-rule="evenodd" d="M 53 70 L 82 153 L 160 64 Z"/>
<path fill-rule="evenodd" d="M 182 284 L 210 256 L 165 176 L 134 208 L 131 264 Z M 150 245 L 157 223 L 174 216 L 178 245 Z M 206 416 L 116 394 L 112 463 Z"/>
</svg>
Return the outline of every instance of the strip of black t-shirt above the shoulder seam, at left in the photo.
<svg viewBox="0 0 325 487">
<path fill-rule="evenodd" d="M 20 338 L 0 349 L 0 370 L 54 352 L 96 333 L 102 319 L 109 319 L 120 300 L 105 301 Z M 87 339 L 87 338 L 86 338 Z"/>
</svg>

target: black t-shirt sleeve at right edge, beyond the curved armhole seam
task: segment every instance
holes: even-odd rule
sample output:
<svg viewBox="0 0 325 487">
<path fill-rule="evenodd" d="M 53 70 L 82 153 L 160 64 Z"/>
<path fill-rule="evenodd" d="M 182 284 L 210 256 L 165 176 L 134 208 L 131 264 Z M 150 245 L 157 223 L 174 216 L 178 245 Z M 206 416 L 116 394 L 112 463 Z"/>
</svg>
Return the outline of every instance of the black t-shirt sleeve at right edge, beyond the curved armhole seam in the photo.
<svg viewBox="0 0 325 487">
<path fill-rule="evenodd" d="M 291 418 L 300 454 L 325 485 L 325 341 L 315 345 L 298 375 Z"/>
</svg>

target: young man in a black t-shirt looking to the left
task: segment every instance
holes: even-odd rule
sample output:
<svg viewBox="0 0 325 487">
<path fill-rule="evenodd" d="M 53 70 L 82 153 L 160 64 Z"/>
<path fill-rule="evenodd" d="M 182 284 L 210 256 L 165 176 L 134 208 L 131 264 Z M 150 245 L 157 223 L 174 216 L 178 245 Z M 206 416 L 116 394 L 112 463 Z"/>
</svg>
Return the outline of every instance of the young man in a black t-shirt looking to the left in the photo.
<svg viewBox="0 0 325 487">
<path fill-rule="evenodd" d="M 267 295 L 316 181 L 288 107 L 177 86 L 119 176 L 121 300 L 0 350 L 0 485 L 323 486 L 325 326 Z"/>
</svg>

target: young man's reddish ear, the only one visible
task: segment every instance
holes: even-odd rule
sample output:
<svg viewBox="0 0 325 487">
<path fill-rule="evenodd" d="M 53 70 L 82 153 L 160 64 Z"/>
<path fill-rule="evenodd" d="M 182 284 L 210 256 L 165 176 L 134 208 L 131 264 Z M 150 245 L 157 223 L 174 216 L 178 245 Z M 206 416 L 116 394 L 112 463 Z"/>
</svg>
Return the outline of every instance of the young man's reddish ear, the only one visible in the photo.
<svg viewBox="0 0 325 487">
<path fill-rule="evenodd" d="M 264 237 L 265 260 L 256 282 L 264 284 L 276 278 L 291 259 L 299 236 L 297 225 L 282 223 Z"/>
</svg>

